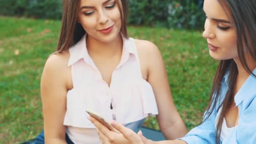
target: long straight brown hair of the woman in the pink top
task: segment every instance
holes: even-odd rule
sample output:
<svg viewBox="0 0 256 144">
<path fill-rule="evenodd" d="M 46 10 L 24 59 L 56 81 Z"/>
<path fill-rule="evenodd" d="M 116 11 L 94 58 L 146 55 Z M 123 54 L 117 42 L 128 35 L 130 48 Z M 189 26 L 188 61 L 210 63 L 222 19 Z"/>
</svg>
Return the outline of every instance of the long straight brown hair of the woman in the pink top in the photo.
<svg viewBox="0 0 256 144">
<path fill-rule="evenodd" d="M 120 32 L 123 34 L 123 37 L 128 38 L 126 26 L 128 17 L 128 3 L 127 0 L 116 0 L 116 2 L 122 21 Z M 55 53 L 61 53 L 62 51 L 67 50 L 72 45 L 77 43 L 83 37 L 83 35 L 85 35 L 85 30 L 77 21 L 80 9 L 79 7 L 80 0 L 63 0 L 61 33 Z"/>
</svg>

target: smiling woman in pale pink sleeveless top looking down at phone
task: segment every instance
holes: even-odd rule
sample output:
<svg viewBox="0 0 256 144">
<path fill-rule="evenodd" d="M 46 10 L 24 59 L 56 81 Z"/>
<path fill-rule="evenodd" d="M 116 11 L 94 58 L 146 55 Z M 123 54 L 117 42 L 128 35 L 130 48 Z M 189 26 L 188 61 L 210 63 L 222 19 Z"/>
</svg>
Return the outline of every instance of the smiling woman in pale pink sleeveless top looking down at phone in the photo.
<svg viewBox="0 0 256 144">
<path fill-rule="evenodd" d="M 127 0 L 63 0 L 59 43 L 41 78 L 45 137 L 36 143 L 101 143 L 86 109 L 135 132 L 157 115 L 167 139 L 186 134 L 162 56 L 128 37 L 127 13 Z"/>
</svg>

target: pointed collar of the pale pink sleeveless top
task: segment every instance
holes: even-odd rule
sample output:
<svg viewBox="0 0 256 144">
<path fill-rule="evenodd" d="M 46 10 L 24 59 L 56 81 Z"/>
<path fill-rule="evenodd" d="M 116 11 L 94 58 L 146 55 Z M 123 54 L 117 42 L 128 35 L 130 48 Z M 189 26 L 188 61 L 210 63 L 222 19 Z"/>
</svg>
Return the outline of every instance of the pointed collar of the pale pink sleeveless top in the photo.
<svg viewBox="0 0 256 144">
<path fill-rule="evenodd" d="M 87 51 L 86 37 L 87 37 L 87 34 L 85 34 L 79 42 L 77 42 L 75 45 L 69 48 L 70 57 L 68 61 L 68 67 L 71 66 L 72 64 L 75 64 L 80 59 L 84 59 L 86 63 L 94 65 L 93 60 L 91 59 Z M 122 51 L 121 61 L 119 65 L 122 65 L 125 61 L 128 60 L 130 53 L 132 54 L 136 53 L 136 50 L 135 50 L 136 47 L 133 41 L 131 40 L 132 38 L 126 39 L 125 37 L 123 37 L 123 35 L 122 35 L 122 38 L 123 38 L 123 51 Z"/>
</svg>

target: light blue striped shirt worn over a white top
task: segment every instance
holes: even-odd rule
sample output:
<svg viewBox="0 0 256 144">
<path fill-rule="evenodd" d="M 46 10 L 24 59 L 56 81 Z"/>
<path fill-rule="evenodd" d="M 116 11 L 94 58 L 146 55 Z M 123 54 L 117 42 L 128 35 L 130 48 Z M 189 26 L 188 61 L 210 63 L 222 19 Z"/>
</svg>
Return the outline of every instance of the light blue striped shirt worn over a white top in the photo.
<svg viewBox="0 0 256 144">
<path fill-rule="evenodd" d="M 253 70 L 256 75 L 256 69 Z M 217 109 L 228 90 L 228 75 L 224 75 L 221 82 L 220 101 L 217 103 L 213 113 L 201 125 L 193 128 L 181 140 L 187 144 L 215 144 L 216 128 L 215 119 Z M 239 120 L 237 127 L 230 131 L 221 144 L 256 144 L 256 78 L 250 75 L 240 90 L 235 95 L 235 104 L 239 109 Z M 205 115 L 207 112 L 205 112 Z"/>
</svg>

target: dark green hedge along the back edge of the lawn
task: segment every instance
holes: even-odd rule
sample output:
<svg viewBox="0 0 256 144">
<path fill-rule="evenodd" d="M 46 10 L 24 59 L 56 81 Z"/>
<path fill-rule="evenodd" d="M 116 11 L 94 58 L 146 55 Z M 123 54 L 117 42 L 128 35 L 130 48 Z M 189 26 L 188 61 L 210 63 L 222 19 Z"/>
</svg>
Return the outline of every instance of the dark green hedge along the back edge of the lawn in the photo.
<svg viewBox="0 0 256 144">
<path fill-rule="evenodd" d="M 203 0 L 128 0 L 129 24 L 202 28 Z M 61 19 L 62 0 L 0 0 L 0 15 Z"/>
</svg>

